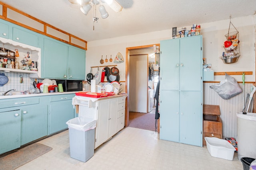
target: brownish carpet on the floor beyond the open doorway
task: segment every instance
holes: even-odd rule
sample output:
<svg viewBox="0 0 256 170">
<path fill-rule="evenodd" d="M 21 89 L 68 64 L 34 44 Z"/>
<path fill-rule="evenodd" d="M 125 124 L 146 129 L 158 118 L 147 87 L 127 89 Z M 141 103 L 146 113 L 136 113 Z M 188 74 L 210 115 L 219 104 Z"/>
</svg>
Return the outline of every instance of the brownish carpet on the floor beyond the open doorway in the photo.
<svg viewBox="0 0 256 170">
<path fill-rule="evenodd" d="M 152 113 L 137 113 L 129 112 L 129 125 L 130 127 L 136 127 L 139 129 L 146 129 L 155 131 L 155 114 Z"/>
</svg>

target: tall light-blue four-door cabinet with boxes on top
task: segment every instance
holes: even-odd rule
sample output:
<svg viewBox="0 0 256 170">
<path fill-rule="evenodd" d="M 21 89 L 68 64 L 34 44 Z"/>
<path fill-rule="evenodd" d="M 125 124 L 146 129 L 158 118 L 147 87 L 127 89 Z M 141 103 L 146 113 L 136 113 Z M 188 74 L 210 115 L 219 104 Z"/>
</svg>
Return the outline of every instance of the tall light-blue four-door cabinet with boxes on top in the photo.
<svg viewBox="0 0 256 170">
<path fill-rule="evenodd" d="M 160 139 L 202 147 L 202 35 L 160 49 Z"/>
</svg>

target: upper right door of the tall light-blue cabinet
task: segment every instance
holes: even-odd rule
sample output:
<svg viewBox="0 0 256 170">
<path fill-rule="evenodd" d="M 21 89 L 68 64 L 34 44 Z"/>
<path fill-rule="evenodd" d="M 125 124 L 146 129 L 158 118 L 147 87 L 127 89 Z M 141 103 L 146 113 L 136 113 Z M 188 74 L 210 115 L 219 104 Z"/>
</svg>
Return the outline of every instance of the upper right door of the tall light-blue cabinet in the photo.
<svg viewBox="0 0 256 170">
<path fill-rule="evenodd" d="M 201 90 L 201 41 L 202 36 L 180 39 L 180 90 Z"/>
</svg>

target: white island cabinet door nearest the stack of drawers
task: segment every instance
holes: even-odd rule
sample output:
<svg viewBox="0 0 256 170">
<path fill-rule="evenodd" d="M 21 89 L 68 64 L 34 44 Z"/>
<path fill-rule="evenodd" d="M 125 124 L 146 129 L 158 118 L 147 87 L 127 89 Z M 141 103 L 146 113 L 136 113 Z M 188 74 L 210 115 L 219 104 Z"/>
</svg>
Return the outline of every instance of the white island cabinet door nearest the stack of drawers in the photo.
<svg viewBox="0 0 256 170">
<path fill-rule="evenodd" d="M 113 98 L 109 101 L 110 105 L 110 112 L 109 112 L 109 131 L 108 131 L 108 138 L 112 137 L 117 132 L 117 109 L 118 109 L 118 98 Z"/>
</svg>

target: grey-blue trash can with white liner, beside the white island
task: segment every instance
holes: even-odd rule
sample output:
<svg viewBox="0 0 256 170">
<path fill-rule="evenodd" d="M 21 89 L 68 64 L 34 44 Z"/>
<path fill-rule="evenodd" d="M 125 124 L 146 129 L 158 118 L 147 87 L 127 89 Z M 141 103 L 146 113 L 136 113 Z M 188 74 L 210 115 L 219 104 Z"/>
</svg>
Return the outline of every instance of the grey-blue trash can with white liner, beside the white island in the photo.
<svg viewBox="0 0 256 170">
<path fill-rule="evenodd" d="M 69 131 L 70 157 L 86 162 L 94 155 L 96 120 L 75 117 L 66 124 Z"/>
</svg>

